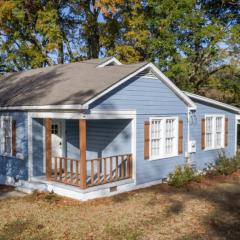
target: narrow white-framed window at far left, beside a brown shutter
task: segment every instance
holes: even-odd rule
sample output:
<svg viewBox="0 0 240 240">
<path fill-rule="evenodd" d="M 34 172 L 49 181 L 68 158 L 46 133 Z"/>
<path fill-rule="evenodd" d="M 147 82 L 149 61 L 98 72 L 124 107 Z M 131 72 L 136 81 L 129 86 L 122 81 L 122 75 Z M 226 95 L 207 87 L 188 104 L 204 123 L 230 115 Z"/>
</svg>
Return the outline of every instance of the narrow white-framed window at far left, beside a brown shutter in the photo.
<svg viewBox="0 0 240 240">
<path fill-rule="evenodd" d="M 1 153 L 12 153 L 12 118 L 1 117 Z"/>
</svg>

